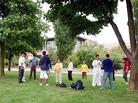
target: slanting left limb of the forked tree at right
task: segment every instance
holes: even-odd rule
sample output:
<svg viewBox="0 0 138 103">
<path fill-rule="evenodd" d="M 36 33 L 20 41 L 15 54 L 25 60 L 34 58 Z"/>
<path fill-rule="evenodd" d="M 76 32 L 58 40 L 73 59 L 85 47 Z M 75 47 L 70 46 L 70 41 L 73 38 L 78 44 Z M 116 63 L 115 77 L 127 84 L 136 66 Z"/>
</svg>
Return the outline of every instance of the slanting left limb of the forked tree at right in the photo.
<svg viewBox="0 0 138 103">
<path fill-rule="evenodd" d="M 119 42 L 121 48 L 123 49 L 123 51 L 126 54 L 126 56 L 129 59 L 131 59 L 132 58 L 132 55 L 131 55 L 130 51 L 128 50 L 128 48 L 126 47 L 126 44 L 125 44 L 125 42 L 124 42 L 124 40 L 123 40 L 123 38 L 122 38 L 122 36 L 121 36 L 121 34 L 119 32 L 119 29 L 118 29 L 117 25 L 114 23 L 113 20 L 110 21 L 110 24 L 111 24 L 111 26 L 112 26 L 115 34 L 116 34 L 116 37 L 118 39 L 118 42 Z"/>
</svg>

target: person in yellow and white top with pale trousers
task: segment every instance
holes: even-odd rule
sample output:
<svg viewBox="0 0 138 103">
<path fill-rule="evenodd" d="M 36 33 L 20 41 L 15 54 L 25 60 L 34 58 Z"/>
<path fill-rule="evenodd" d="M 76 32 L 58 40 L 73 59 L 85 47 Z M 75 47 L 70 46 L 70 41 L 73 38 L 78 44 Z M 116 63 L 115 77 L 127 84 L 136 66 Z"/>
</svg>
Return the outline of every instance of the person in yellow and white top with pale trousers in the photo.
<svg viewBox="0 0 138 103">
<path fill-rule="evenodd" d="M 62 83 L 62 68 L 63 68 L 63 64 L 60 62 L 60 60 L 58 59 L 57 63 L 55 64 L 55 73 L 56 73 L 56 83 Z"/>
</svg>

